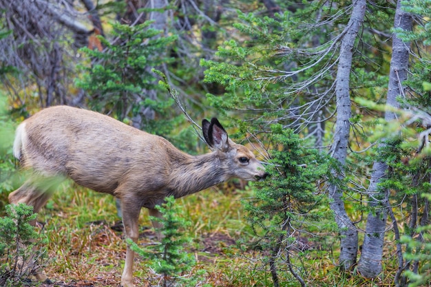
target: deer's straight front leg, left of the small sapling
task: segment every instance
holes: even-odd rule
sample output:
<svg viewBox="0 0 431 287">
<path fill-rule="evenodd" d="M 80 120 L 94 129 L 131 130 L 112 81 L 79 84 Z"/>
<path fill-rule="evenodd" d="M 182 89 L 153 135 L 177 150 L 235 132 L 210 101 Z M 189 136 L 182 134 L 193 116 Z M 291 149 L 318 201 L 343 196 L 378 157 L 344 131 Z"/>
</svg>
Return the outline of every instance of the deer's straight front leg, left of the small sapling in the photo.
<svg viewBox="0 0 431 287">
<path fill-rule="evenodd" d="M 136 206 L 136 201 L 121 200 L 121 209 L 123 211 L 123 224 L 126 238 L 130 238 L 133 242 L 138 241 L 138 219 L 140 206 Z M 133 284 L 133 263 L 135 253 L 127 244 L 126 259 L 124 264 L 123 275 L 121 275 L 121 286 L 134 287 Z"/>
</svg>

